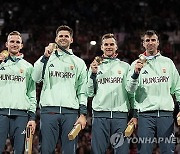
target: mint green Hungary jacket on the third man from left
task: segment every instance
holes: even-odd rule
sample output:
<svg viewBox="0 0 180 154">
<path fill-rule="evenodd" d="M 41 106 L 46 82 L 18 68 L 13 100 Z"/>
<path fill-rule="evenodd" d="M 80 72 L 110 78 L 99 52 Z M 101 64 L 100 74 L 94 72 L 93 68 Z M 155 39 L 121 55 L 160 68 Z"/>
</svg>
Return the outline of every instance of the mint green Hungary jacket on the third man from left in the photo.
<svg viewBox="0 0 180 154">
<path fill-rule="evenodd" d="M 118 58 L 104 58 L 96 74 L 89 70 L 87 93 L 89 97 L 94 97 L 94 113 L 108 111 L 113 118 L 113 112 L 127 113 L 133 108 L 134 95 L 128 94 L 125 89 L 129 67 L 128 63 Z"/>
</svg>

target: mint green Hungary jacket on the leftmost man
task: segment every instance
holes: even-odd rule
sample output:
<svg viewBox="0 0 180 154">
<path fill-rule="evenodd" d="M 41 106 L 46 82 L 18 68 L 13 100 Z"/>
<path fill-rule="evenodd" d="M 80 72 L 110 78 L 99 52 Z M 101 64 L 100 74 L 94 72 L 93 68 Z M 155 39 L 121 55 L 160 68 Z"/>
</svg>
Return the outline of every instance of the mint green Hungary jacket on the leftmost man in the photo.
<svg viewBox="0 0 180 154">
<path fill-rule="evenodd" d="M 23 55 L 9 56 L 0 64 L 0 114 L 29 115 L 35 119 L 36 86 L 33 66 Z"/>
</svg>

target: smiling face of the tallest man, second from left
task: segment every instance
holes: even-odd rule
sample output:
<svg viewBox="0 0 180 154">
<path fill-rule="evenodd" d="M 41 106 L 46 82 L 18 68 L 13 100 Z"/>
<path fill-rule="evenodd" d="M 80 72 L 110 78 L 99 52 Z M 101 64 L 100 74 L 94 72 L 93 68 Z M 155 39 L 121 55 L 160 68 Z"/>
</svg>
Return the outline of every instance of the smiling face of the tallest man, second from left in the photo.
<svg viewBox="0 0 180 154">
<path fill-rule="evenodd" d="M 55 42 L 64 49 L 69 49 L 70 44 L 73 42 L 73 38 L 69 31 L 61 30 L 58 32 Z"/>
</svg>

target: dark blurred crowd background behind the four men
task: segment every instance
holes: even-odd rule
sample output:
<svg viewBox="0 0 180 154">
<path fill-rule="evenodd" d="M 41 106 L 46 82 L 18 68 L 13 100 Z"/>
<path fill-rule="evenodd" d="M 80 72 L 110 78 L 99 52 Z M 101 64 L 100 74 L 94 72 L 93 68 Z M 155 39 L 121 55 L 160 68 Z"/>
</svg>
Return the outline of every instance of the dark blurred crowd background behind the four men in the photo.
<svg viewBox="0 0 180 154">
<path fill-rule="evenodd" d="M 55 30 L 66 24 L 74 29 L 74 54 L 83 58 L 89 67 L 93 58 L 101 55 L 100 37 L 114 33 L 118 40 L 118 57 L 131 64 L 143 52 L 140 35 L 144 30 L 154 29 L 160 34 L 161 53 L 170 57 L 180 72 L 180 1 L 179 0 L 2 0 L 0 5 L 0 51 L 5 49 L 7 34 L 13 30 L 22 33 L 25 59 L 32 64 L 44 53 L 45 46 L 54 42 Z M 90 41 L 96 41 L 95 45 Z M 41 84 L 37 85 L 39 100 Z M 91 99 L 88 101 L 88 124 L 80 134 L 78 154 L 90 153 Z M 33 153 L 39 149 L 39 110 L 37 129 L 33 139 Z M 176 136 L 180 130 L 175 126 Z M 60 144 L 56 153 L 60 153 Z M 131 144 L 130 154 L 136 153 Z M 111 154 L 110 147 L 107 154 Z M 12 153 L 10 139 L 5 152 Z M 158 146 L 154 154 L 158 154 Z M 180 144 L 176 146 L 180 153 Z"/>
</svg>

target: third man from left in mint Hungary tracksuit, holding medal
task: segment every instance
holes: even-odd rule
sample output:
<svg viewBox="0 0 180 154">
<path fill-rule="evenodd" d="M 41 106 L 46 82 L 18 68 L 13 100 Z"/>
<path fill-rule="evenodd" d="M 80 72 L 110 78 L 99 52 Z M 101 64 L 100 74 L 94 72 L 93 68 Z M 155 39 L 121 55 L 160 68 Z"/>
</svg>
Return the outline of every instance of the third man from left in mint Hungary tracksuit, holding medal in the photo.
<svg viewBox="0 0 180 154">
<path fill-rule="evenodd" d="M 129 64 L 116 58 L 118 47 L 113 34 L 105 34 L 101 42 L 104 54 L 102 60 L 96 58 L 91 63 L 87 88 L 89 97 L 94 97 L 92 153 L 105 154 L 111 139 L 114 153 L 127 154 L 127 140 L 121 140 L 121 136 L 119 142 L 116 140 L 118 134 L 124 136 L 128 111 L 133 107 L 134 96 L 129 95 L 125 89 Z M 131 122 L 136 124 L 136 118 L 132 118 Z"/>
</svg>

